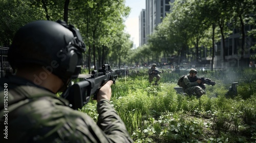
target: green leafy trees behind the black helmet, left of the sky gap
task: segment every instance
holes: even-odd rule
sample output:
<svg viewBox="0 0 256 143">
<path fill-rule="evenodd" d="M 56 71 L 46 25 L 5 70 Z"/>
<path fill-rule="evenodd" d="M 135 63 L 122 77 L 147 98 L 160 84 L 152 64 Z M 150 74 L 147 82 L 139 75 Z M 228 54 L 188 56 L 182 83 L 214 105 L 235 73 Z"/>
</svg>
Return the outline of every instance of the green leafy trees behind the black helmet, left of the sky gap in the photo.
<svg viewBox="0 0 256 143">
<path fill-rule="evenodd" d="M 124 61 L 133 45 L 130 35 L 124 32 L 123 21 L 131 10 L 125 6 L 124 0 L 2 0 L 0 9 L 0 31 L 5 33 L 0 37 L 1 46 L 9 47 L 20 27 L 39 19 L 63 19 L 78 28 L 88 50 L 83 60 L 87 61 L 88 58 L 95 63 L 95 67 L 104 64 L 111 55 L 108 62 L 114 63 L 117 59 L 119 63 Z M 91 63 L 86 64 L 90 67 Z"/>
</svg>

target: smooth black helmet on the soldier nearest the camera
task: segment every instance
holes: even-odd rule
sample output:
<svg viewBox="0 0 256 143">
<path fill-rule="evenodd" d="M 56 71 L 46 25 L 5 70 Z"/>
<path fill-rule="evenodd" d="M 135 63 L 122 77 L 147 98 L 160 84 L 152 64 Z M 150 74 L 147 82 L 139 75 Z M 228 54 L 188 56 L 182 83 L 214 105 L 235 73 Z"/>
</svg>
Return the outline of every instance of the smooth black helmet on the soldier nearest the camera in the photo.
<svg viewBox="0 0 256 143">
<path fill-rule="evenodd" d="M 66 83 L 80 74 L 85 51 L 86 45 L 74 26 L 62 20 L 37 20 L 16 32 L 8 59 L 17 69 L 34 64 L 45 66 Z"/>
</svg>

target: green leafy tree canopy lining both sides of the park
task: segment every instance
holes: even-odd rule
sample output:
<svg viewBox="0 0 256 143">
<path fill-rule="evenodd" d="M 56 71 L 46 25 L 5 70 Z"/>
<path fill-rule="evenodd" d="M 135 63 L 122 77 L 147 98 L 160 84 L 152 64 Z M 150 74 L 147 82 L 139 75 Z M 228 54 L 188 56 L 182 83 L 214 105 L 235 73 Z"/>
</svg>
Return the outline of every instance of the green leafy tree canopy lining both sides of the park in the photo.
<svg viewBox="0 0 256 143">
<path fill-rule="evenodd" d="M 80 30 L 87 45 L 84 64 L 89 67 L 92 64 L 95 69 L 104 63 L 112 66 L 161 63 L 166 57 L 174 57 L 168 63 L 199 62 L 202 47 L 213 61 L 215 45 L 221 40 L 225 60 L 228 49 L 225 40 L 233 29 L 238 29 L 241 35 L 238 47 L 241 59 L 253 49 L 246 37 L 256 35 L 255 1 L 176 0 L 170 5 L 170 12 L 155 32 L 147 35 L 148 43 L 132 50 L 130 35 L 124 32 L 124 21 L 131 11 L 125 0 L 2 0 L 0 45 L 10 46 L 15 32 L 30 21 L 63 19 Z M 252 30 L 248 31 L 246 26 Z"/>
</svg>

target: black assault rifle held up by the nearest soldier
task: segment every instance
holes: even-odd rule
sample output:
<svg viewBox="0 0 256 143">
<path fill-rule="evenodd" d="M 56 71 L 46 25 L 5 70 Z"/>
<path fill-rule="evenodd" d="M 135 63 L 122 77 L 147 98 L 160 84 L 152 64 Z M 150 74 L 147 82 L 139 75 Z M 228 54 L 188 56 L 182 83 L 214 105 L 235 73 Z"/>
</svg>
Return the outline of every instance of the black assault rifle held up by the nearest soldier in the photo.
<svg viewBox="0 0 256 143">
<path fill-rule="evenodd" d="M 61 94 L 62 98 L 69 100 L 73 109 L 82 108 L 91 97 L 97 100 L 98 90 L 109 80 L 116 83 L 116 70 L 111 70 L 110 65 L 103 64 L 101 69 L 93 70 L 92 75 L 79 75 L 78 82 L 71 85 L 67 91 Z"/>
</svg>

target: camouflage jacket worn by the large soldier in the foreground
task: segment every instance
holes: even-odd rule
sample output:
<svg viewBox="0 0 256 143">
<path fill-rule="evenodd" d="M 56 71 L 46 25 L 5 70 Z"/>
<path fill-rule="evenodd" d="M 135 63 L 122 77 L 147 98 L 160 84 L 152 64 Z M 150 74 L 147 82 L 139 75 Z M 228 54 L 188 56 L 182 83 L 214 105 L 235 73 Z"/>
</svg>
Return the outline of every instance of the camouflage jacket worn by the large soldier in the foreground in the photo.
<svg viewBox="0 0 256 143">
<path fill-rule="evenodd" d="M 99 116 L 95 124 L 90 116 L 73 110 L 67 100 L 54 93 L 29 86 L 29 82 L 17 83 L 0 79 L 0 142 L 133 142 L 109 101 L 97 104 Z M 8 105 L 3 105 L 6 88 Z M 8 134 L 3 129 L 8 129 Z M 8 139 L 4 138 L 6 135 Z"/>
</svg>

